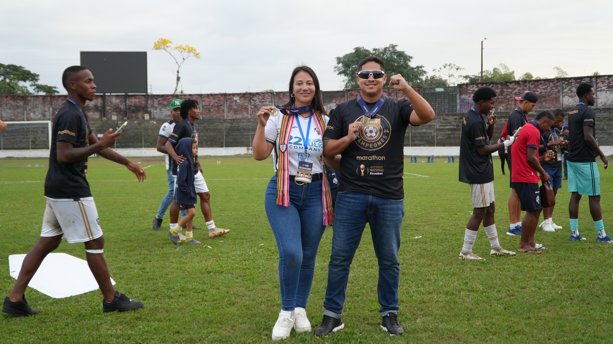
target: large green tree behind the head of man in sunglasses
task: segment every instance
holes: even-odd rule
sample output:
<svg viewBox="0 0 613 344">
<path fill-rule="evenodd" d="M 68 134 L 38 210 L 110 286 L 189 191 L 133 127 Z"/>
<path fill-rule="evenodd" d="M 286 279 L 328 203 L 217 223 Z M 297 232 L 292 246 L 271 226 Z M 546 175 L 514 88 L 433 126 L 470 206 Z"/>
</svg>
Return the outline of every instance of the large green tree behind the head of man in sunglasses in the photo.
<svg viewBox="0 0 613 344">
<path fill-rule="evenodd" d="M 364 47 L 356 47 L 351 53 L 338 56 L 334 71 L 345 77 L 345 89 L 357 89 L 356 75 L 357 65 L 368 56 L 378 56 L 385 62 L 388 78 L 391 75 L 400 74 L 409 84 L 420 84 L 427 74 L 423 65 L 411 67 L 413 56 L 405 51 L 398 50 L 398 45 L 390 44 L 384 48 L 373 48 L 372 51 Z M 389 87 L 389 85 L 386 85 Z"/>
</svg>

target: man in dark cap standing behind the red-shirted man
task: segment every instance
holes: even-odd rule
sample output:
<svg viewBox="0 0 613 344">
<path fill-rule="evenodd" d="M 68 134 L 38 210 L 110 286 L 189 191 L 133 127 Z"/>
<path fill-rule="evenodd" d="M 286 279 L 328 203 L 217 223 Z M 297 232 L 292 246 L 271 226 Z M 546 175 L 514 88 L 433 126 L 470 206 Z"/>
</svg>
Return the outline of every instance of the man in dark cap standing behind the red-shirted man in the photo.
<svg viewBox="0 0 613 344">
<path fill-rule="evenodd" d="M 526 91 L 520 97 L 515 97 L 516 100 L 519 100 L 519 105 L 517 108 L 513 110 L 513 112 L 509 115 L 508 121 L 506 121 L 506 135 L 514 135 L 517 132 L 517 129 L 525 125 L 530 119 L 528 118 L 528 113 L 534 110 L 536 106 L 536 102 L 538 102 L 538 97 L 534 92 Z M 509 175 L 512 174 L 511 171 L 511 162 L 513 157 L 511 155 L 511 150 L 508 151 L 508 161 L 509 161 Z M 517 196 L 517 192 L 513 187 L 513 182 L 511 178 L 509 178 L 509 186 L 511 187 L 511 195 L 509 195 L 509 231 L 506 232 L 507 235 L 522 235 L 522 208 L 519 202 L 519 196 Z"/>
</svg>

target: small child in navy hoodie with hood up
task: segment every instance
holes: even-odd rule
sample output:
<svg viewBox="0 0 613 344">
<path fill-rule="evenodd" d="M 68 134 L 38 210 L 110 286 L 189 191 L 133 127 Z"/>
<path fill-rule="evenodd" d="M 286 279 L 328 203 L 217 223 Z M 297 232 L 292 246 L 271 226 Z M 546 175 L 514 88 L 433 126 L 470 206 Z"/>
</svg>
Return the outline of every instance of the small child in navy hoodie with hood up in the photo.
<svg viewBox="0 0 613 344">
<path fill-rule="evenodd" d="M 168 236 L 175 245 L 179 244 L 181 242 L 179 233 L 181 233 L 183 226 L 186 226 L 185 243 L 199 245 L 200 242 L 194 239 L 192 233 L 194 215 L 196 215 L 194 204 L 197 203 L 196 187 L 194 186 L 194 157 L 198 156 L 198 141 L 195 138 L 181 138 L 175 146 L 175 151 L 178 155 L 185 157 L 185 160 L 177 167 L 175 202 L 177 202 L 179 210 L 185 210 L 188 214 L 181 217 L 179 223 L 168 231 Z"/>
</svg>

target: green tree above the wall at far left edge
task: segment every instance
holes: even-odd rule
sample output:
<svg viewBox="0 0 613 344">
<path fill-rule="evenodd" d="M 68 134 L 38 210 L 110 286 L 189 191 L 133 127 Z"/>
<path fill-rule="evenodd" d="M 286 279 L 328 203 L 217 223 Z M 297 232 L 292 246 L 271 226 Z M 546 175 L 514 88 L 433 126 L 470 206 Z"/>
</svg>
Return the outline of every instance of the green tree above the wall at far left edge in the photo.
<svg viewBox="0 0 613 344">
<path fill-rule="evenodd" d="M 29 95 L 43 93 L 47 95 L 58 94 L 55 86 L 37 83 L 40 75 L 33 73 L 21 65 L 0 63 L 0 94 L 2 95 Z M 29 84 L 29 89 L 28 88 Z"/>
</svg>

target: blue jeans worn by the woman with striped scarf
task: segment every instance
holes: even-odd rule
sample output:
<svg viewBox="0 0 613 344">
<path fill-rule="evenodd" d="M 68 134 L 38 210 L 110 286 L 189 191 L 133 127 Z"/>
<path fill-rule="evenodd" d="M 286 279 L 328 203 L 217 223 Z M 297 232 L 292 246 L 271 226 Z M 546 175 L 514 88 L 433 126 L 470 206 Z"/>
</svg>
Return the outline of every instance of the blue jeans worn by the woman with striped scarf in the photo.
<svg viewBox="0 0 613 344">
<path fill-rule="evenodd" d="M 324 234 L 321 180 L 297 185 L 289 182 L 289 206 L 276 204 L 277 177 L 268 182 L 266 216 L 279 250 L 281 309 L 307 307 L 313 283 L 315 257 Z"/>
</svg>

